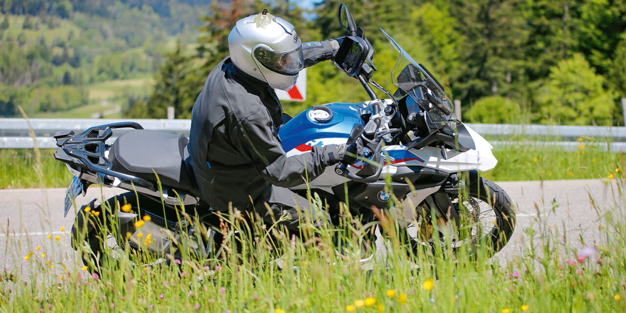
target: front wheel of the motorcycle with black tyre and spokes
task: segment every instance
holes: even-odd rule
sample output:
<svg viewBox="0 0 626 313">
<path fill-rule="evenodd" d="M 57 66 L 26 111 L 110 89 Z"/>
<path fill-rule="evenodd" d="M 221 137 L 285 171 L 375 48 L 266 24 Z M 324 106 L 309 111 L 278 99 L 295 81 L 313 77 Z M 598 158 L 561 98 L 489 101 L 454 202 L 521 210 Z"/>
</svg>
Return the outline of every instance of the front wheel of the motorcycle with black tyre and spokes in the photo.
<svg viewBox="0 0 626 313">
<path fill-rule="evenodd" d="M 406 228 L 413 254 L 433 253 L 437 250 L 435 245 L 449 244 L 455 254 L 465 250 L 469 257 L 476 257 L 482 248 L 491 257 L 510 240 L 515 213 L 505 190 L 476 173 L 469 173 L 466 187 L 465 192 L 448 194 L 459 215 L 458 227 L 444 218 L 431 217 L 430 210 L 423 207 L 423 218 Z M 433 220 L 437 225 L 433 225 Z"/>
</svg>

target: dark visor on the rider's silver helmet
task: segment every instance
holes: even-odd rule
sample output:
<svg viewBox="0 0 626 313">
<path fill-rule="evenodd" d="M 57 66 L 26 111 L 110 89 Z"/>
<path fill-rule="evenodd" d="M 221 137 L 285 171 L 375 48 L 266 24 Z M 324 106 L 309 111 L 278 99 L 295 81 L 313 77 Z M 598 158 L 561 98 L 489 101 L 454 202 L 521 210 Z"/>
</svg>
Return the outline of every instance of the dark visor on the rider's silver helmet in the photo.
<svg viewBox="0 0 626 313">
<path fill-rule="evenodd" d="M 280 74 L 296 75 L 304 68 L 304 56 L 300 46 L 284 52 L 258 47 L 254 49 L 254 58 L 266 68 Z"/>
</svg>

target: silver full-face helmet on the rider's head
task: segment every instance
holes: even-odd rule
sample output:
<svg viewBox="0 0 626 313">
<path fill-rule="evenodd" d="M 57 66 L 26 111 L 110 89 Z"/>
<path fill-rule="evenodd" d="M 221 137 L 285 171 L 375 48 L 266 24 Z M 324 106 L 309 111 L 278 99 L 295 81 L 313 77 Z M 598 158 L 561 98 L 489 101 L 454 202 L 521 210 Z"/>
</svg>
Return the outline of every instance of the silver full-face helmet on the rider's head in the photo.
<svg viewBox="0 0 626 313">
<path fill-rule="evenodd" d="M 228 49 L 237 68 L 280 90 L 290 90 L 304 68 L 302 41 L 294 26 L 267 9 L 237 21 L 228 35 Z"/>
</svg>

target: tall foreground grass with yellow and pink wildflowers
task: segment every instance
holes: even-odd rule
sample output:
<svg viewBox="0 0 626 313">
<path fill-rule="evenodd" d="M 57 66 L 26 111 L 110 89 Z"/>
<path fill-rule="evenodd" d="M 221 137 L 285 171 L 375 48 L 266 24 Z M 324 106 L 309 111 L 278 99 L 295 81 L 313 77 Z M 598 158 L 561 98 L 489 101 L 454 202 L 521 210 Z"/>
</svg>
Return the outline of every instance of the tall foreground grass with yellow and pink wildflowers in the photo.
<svg viewBox="0 0 626 313">
<path fill-rule="evenodd" d="M 245 222 L 231 212 L 220 224 L 227 245 L 219 260 L 197 257 L 188 245 L 183 245 L 180 259 L 165 255 L 163 260 L 170 262 L 140 265 L 157 257 L 130 250 L 126 245 L 116 262 L 91 262 L 81 268 L 76 257 L 65 263 L 52 261 L 51 256 L 67 255 L 71 248 L 67 240 L 50 235 L 43 248 L 29 247 L 28 254 L 14 257 L 13 262 L 23 262 L 25 276 L 17 271 L 0 276 L 0 286 L 6 290 L 0 295 L 0 310 L 623 312 L 624 191 L 623 183 L 618 184 L 613 190 L 615 206 L 606 213 L 596 208 L 600 235 L 593 244 L 585 244 L 585 249 L 576 249 L 576 242 L 562 237 L 562 230 L 546 222 L 552 210 L 538 212 L 546 216 L 538 214 L 531 227 L 517 230 L 531 238 L 523 248 L 523 257 L 510 258 L 505 265 L 500 265 L 497 258 L 488 260 L 486 245 L 478 247 L 475 262 L 468 262 L 463 252 L 451 257 L 448 247 L 439 246 L 435 254 L 409 257 L 393 220 L 382 218 L 387 257 L 380 257 L 371 270 L 364 270 L 357 262 L 360 255 L 356 247 L 361 246 L 367 229 L 348 212 L 338 227 L 314 228 L 305 223 L 305 240 L 290 237 L 280 227 L 264 227 L 254 220 Z M 102 216 L 109 216 L 109 210 L 104 210 Z M 96 226 L 117 229 L 110 219 L 98 222 L 92 212 L 90 220 Z M 189 215 L 182 218 L 192 223 L 195 220 Z M 142 226 L 138 227 L 137 233 L 143 233 Z M 239 235 L 235 236 L 236 232 Z M 14 237 L 6 238 L 9 249 L 18 245 L 9 239 Z M 333 239 L 337 238 L 344 242 L 341 254 L 334 248 Z M 193 239 L 182 235 L 180 240 Z M 145 250 L 151 245 L 149 241 L 146 234 L 137 242 Z M 367 246 L 374 249 L 371 243 Z M 86 245 L 81 251 L 91 253 Z M 90 274 L 90 268 L 100 274 Z"/>
</svg>

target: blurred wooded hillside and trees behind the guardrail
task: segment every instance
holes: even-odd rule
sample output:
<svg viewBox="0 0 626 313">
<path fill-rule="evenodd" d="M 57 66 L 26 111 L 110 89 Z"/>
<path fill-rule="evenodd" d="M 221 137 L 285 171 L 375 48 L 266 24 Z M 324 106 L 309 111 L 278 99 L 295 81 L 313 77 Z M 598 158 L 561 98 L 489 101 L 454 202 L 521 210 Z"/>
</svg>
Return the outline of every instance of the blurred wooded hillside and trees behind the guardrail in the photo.
<svg viewBox="0 0 626 313">
<path fill-rule="evenodd" d="M 346 3 L 394 90 L 398 54 L 426 64 L 474 123 L 623 126 L 623 0 L 0 0 L 0 117 L 190 118 L 235 21 L 268 8 L 302 41 L 339 38 Z M 308 70 L 309 106 L 368 100 L 331 62 Z M 0 121 L 1 123 L 1 121 Z"/>
</svg>

